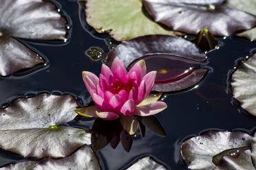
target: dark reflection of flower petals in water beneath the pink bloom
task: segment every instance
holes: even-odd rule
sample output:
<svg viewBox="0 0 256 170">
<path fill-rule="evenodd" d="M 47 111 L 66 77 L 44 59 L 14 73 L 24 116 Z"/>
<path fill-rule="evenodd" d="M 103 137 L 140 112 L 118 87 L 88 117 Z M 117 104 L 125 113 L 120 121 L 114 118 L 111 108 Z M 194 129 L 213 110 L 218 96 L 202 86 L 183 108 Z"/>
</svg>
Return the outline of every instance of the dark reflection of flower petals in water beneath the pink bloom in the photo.
<svg viewBox="0 0 256 170">
<path fill-rule="evenodd" d="M 140 125 L 140 136 L 145 137 L 146 127 L 158 136 L 167 136 L 161 123 L 156 117 L 136 117 Z M 138 132 L 133 136 L 129 135 L 122 127 L 120 120 L 106 121 L 97 118 L 92 125 L 92 148 L 94 151 L 99 151 L 110 144 L 113 149 L 116 149 L 119 143 L 123 149 L 129 152 L 131 149 L 133 138 L 138 136 Z"/>
</svg>

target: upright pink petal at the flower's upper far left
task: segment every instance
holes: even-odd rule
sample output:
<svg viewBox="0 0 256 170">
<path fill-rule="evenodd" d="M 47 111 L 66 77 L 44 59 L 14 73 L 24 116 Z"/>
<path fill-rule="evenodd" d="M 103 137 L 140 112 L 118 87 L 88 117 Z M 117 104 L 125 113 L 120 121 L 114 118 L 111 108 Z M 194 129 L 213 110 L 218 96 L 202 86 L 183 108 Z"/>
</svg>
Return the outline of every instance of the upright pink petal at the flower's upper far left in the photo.
<svg viewBox="0 0 256 170">
<path fill-rule="evenodd" d="M 90 95 L 96 93 L 96 86 L 99 82 L 98 77 L 89 71 L 83 71 L 83 81 Z"/>
</svg>

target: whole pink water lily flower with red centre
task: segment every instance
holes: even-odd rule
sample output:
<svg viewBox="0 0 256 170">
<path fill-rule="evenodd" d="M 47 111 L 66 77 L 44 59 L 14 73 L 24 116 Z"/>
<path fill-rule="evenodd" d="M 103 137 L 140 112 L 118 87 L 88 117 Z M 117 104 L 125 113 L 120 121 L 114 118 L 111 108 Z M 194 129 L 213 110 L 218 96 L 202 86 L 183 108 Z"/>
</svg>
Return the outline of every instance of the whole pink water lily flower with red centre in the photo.
<svg viewBox="0 0 256 170">
<path fill-rule="evenodd" d="M 76 112 L 107 120 L 120 117 L 123 126 L 138 123 L 133 115 L 147 117 L 167 108 L 167 104 L 158 101 L 159 96 L 149 96 L 155 79 L 156 71 L 147 73 L 145 60 L 137 62 L 128 73 L 119 58 L 115 58 L 111 69 L 103 64 L 99 78 L 83 71 L 85 86 L 96 106 L 80 108 Z"/>
</svg>

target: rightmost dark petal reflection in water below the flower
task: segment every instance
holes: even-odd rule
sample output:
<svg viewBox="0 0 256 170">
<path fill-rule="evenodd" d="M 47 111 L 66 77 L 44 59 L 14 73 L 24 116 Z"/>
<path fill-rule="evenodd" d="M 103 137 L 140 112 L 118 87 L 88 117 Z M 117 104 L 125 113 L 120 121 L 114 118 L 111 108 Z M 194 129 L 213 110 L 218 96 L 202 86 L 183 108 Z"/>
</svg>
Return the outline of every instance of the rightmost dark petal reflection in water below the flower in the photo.
<svg viewBox="0 0 256 170">
<path fill-rule="evenodd" d="M 141 122 L 143 123 L 143 125 L 147 126 L 149 130 L 158 134 L 159 136 L 167 136 L 164 127 L 162 127 L 161 123 L 158 121 L 158 119 L 156 119 L 156 117 L 142 117 Z"/>
</svg>

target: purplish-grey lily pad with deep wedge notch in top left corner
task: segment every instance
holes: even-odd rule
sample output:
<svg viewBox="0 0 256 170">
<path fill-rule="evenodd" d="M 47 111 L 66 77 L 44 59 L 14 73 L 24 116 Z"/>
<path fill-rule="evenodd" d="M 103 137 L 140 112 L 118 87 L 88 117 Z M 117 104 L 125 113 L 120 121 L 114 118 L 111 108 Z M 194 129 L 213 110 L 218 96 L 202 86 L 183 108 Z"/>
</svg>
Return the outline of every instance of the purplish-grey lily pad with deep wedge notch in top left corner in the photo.
<svg viewBox="0 0 256 170">
<path fill-rule="evenodd" d="M 67 22 L 56 5 L 41 0 L 2 0 L 0 6 L 0 75 L 30 69 L 42 58 L 14 38 L 64 40 Z"/>
</svg>

